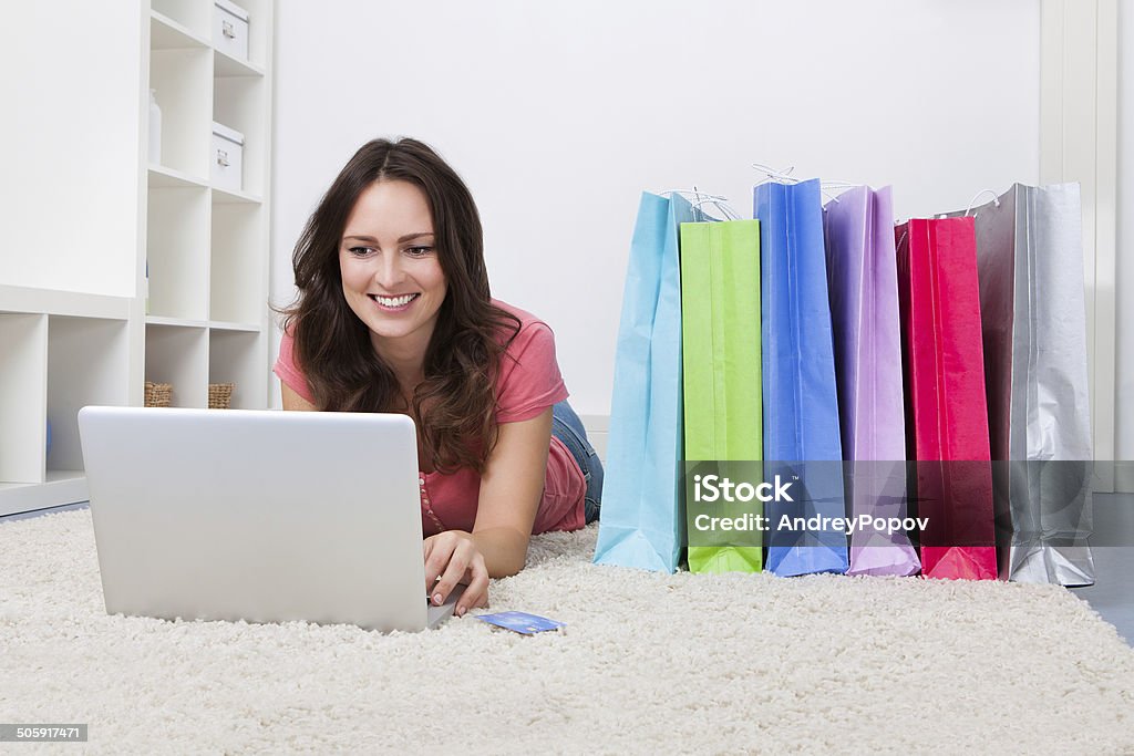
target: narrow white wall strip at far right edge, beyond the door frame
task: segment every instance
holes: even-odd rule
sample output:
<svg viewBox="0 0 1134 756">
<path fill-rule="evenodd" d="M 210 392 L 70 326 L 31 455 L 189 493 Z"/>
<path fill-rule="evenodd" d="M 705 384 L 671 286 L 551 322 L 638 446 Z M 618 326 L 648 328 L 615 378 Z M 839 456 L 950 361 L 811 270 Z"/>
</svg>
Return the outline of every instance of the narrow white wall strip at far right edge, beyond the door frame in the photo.
<svg viewBox="0 0 1134 756">
<path fill-rule="evenodd" d="M 1134 6 L 1118 3 L 1118 350 L 1115 459 L 1134 460 Z M 1134 491 L 1134 462 L 1119 464 L 1116 486 Z"/>
</svg>

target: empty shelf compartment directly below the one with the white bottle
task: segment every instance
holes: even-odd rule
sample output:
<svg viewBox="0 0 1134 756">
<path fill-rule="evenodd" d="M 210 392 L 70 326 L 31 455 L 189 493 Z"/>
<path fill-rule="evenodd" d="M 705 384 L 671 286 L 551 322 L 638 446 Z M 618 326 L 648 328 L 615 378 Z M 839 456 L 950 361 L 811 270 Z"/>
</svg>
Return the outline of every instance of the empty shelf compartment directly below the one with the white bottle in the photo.
<svg viewBox="0 0 1134 756">
<path fill-rule="evenodd" d="M 151 189 L 146 226 L 150 315 L 209 318 L 209 190 Z"/>
</svg>

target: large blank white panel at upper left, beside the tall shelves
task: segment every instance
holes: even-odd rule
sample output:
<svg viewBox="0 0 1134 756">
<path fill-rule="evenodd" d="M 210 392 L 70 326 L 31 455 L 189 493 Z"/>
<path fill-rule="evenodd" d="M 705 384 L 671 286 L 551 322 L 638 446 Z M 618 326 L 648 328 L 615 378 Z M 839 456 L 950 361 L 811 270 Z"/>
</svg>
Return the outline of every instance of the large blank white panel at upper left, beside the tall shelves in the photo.
<svg viewBox="0 0 1134 756">
<path fill-rule="evenodd" d="M 142 24 L 136 2 L 5 5 L 0 284 L 137 292 Z"/>
</svg>

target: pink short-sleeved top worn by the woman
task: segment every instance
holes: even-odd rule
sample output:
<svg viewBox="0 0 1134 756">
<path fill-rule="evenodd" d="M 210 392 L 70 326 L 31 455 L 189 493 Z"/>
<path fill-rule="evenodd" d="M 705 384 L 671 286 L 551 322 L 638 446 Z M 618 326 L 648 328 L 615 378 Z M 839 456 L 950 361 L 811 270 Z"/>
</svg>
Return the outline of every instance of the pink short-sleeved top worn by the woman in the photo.
<svg viewBox="0 0 1134 756">
<path fill-rule="evenodd" d="M 497 377 L 497 422 L 531 419 L 567 398 L 567 387 L 556 362 L 555 334 L 547 323 L 531 313 L 498 299 L 493 299 L 492 304 L 521 320 L 519 332 L 508 347 Z M 280 341 L 279 359 L 273 371 L 287 387 L 314 404 L 307 381 L 295 363 L 289 333 L 285 333 Z M 442 530 L 472 532 L 480 498 L 480 475 L 467 467 L 451 475 L 418 470 L 417 483 L 421 489 L 422 529 L 426 536 Z M 543 494 L 532 533 L 583 527 L 585 493 L 586 481 L 578 464 L 567 447 L 551 436 Z"/>
</svg>

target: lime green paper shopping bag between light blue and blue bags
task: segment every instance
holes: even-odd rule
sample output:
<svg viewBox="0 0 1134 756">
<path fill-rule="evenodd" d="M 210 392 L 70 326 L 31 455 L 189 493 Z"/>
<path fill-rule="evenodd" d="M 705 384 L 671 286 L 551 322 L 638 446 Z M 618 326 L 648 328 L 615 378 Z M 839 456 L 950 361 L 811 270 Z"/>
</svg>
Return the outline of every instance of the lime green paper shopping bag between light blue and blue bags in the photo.
<svg viewBox="0 0 1134 756">
<path fill-rule="evenodd" d="M 761 458 L 760 224 L 682 223 L 686 491 L 703 468 L 741 479 Z M 752 481 L 748 481 L 752 483 Z M 756 481 L 759 483 L 759 481 Z M 699 527 L 699 517 L 762 513 L 759 501 L 710 507 L 686 495 L 691 572 L 758 572 L 759 529 Z M 747 520 L 753 521 L 754 520 Z"/>
</svg>

